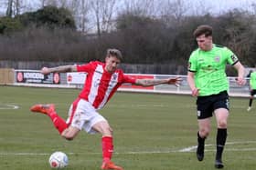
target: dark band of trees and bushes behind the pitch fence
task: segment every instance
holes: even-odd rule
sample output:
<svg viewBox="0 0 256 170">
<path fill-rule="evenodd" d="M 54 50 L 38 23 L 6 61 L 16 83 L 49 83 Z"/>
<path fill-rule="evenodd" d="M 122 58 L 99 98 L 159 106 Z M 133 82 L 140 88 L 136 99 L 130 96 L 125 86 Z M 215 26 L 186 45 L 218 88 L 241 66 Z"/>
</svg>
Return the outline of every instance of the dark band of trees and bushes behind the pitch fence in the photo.
<svg viewBox="0 0 256 170">
<path fill-rule="evenodd" d="M 111 22 L 109 28 L 99 25 L 94 34 L 79 30 L 76 21 L 68 8 L 53 5 L 1 17 L 1 60 L 89 62 L 102 60 L 106 49 L 115 47 L 126 64 L 187 65 L 197 48 L 193 31 L 207 24 L 213 26 L 216 44 L 227 45 L 244 65 L 255 66 L 256 17 L 249 11 L 156 16 L 141 9 L 124 10 L 105 20 Z"/>
</svg>

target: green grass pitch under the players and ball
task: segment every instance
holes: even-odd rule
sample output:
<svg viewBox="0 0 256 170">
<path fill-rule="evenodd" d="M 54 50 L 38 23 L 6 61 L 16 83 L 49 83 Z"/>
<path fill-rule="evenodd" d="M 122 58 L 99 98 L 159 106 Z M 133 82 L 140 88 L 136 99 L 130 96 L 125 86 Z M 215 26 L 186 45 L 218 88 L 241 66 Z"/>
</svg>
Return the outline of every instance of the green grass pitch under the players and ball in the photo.
<svg viewBox="0 0 256 170">
<path fill-rule="evenodd" d="M 31 105 L 54 103 L 62 117 L 80 93 L 76 89 L 0 86 L 0 169 L 47 170 L 55 151 L 69 156 L 67 170 L 99 170 L 101 135 L 80 132 L 73 141 L 59 136 L 46 115 L 32 114 Z M 210 170 L 215 156 L 216 122 L 206 144 L 205 160 L 198 162 L 197 113 L 188 95 L 117 93 L 101 109 L 114 130 L 112 160 L 125 170 Z M 6 105 L 18 105 L 7 109 Z M 255 109 L 248 99 L 230 98 L 229 136 L 223 161 L 226 170 L 254 170 L 256 157 Z M 255 104 L 256 105 L 256 104 Z"/>
</svg>

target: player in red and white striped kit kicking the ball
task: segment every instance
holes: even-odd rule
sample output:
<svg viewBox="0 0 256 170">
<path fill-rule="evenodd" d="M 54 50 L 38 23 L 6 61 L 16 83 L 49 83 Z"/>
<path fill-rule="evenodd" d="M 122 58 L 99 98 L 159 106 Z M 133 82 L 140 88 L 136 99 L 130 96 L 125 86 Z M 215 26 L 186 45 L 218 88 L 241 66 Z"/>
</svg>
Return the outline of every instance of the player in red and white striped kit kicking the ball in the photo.
<svg viewBox="0 0 256 170">
<path fill-rule="evenodd" d="M 124 75 L 123 70 L 118 68 L 123 56 L 117 49 L 108 49 L 105 63 L 93 61 L 86 65 L 61 65 L 58 67 L 43 67 L 41 73 L 67 73 L 85 72 L 86 81 L 78 98 L 70 105 L 69 117 L 64 121 L 55 111 L 53 104 L 33 105 L 32 112 L 48 115 L 52 123 L 59 131 L 59 135 L 67 140 L 72 140 L 79 134 L 80 130 L 85 130 L 88 134 L 101 133 L 102 165 L 101 169 L 123 170 L 123 167 L 115 165 L 112 159 L 113 142 L 112 127 L 108 121 L 98 113 L 123 83 L 133 85 L 179 85 L 181 79 L 135 79 L 129 75 Z"/>
</svg>

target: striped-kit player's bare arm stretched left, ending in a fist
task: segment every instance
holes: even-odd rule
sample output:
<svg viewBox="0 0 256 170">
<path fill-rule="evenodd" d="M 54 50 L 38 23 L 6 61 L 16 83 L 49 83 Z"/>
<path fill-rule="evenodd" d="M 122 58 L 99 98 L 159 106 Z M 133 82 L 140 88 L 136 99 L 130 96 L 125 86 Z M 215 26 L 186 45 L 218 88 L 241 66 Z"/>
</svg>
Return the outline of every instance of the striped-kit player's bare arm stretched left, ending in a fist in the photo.
<svg viewBox="0 0 256 170">
<path fill-rule="evenodd" d="M 48 75 L 49 73 L 67 73 L 67 72 L 76 72 L 77 66 L 76 65 L 61 65 L 57 67 L 43 67 L 41 69 L 41 73 L 43 75 Z"/>
</svg>

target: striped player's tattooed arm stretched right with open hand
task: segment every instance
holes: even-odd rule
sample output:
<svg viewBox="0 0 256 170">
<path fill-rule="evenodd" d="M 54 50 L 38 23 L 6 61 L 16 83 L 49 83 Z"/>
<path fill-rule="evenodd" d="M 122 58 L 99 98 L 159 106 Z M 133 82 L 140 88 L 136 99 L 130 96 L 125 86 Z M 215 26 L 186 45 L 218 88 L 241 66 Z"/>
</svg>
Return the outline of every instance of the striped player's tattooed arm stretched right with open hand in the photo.
<svg viewBox="0 0 256 170">
<path fill-rule="evenodd" d="M 181 81 L 182 79 L 180 77 L 167 78 L 167 79 L 137 79 L 135 85 L 153 86 L 153 85 L 168 84 L 168 85 L 179 86 Z"/>
</svg>

